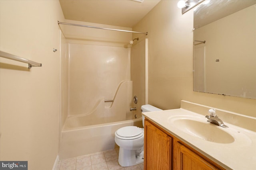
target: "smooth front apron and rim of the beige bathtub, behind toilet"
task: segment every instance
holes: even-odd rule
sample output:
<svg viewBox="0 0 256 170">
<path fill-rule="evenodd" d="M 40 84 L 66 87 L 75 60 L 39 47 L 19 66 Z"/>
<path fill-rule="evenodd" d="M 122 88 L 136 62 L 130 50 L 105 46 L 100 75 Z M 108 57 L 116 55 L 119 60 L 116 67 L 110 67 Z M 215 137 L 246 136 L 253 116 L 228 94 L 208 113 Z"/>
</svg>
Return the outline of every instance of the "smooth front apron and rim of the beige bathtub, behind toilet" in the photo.
<svg viewBox="0 0 256 170">
<path fill-rule="evenodd" d="M 115 131 L 125 126 L 142 127 L 142 118 L 84 127 L 65 124 L 60 140 L 60 160 L 115 149 L 118 147 Z"/>
</svg>

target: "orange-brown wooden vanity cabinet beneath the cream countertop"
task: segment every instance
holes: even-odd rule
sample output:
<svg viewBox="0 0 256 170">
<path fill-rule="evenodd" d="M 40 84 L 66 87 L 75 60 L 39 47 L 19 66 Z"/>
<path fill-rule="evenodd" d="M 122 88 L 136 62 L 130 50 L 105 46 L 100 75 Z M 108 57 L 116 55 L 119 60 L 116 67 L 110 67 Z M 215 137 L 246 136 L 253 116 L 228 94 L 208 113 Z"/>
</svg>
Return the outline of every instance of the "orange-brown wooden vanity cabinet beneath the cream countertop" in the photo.
<svg viewBox="0 0 256 170">
<path fill-rule="evenodd" d="M 144 170 L 225 170 L 155 123 L 145 119 Z"/>
</svg>

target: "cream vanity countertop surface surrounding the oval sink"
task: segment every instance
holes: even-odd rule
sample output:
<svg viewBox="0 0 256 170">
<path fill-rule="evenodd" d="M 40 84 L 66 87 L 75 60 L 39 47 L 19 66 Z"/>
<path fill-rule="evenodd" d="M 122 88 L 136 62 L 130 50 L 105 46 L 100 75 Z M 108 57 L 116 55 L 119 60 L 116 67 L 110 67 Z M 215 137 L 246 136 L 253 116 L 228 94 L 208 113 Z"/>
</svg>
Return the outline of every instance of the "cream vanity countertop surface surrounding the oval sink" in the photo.
<svg viewBox="0 0 256 170">
<path fill-rule="evenodd" d="M 218 112 L 216 113 L 218 115 Z M 235 138 L 235 141 L 232 143 L 215 143 L 189 135 L 170 123 L 170 117 L 177 117 L 180 115 L 196 117 L 196 119 L 200 119 L 200 121 L 205 120 L 205 122 L 208 123 L 205 115 L 182 108 L 145 112 L 142 114 L 171 135 L 174 135 L 184 143 L 198 150 L 223 168 L 234 170 L 256 170 L 255 131 L 250 131 L 224 122 L 229 128 L 223 128 L 217 125 L 216 127 L 221 128 L 232 135 Z"/>
</svg>

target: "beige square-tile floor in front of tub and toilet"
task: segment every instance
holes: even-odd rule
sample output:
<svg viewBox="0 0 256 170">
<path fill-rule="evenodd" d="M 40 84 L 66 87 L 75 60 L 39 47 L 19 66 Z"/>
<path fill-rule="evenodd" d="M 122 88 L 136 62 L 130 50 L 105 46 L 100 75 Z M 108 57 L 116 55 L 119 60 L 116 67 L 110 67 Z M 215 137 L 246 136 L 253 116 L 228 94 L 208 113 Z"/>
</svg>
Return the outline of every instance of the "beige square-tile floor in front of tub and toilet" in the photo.
<svg viewBox="0 0 256 170">
<path fill-rule="evenodd" d="M 144 164 L 122 167 L 118 164 L 119 148 L 60 160 L 55 170 L 143 170 Z"/>
</svg>

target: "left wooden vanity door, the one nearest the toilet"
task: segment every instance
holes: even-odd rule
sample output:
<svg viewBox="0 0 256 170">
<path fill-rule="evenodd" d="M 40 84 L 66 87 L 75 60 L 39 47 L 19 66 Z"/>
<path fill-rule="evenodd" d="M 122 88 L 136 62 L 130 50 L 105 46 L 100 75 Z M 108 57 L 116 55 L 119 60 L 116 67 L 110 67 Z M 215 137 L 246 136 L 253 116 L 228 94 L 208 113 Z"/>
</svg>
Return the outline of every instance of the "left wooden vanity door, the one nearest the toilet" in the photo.
<svg viewBox="0 0 256 170">
<path fill-rule="evenodd" d="M 144 170 L 171 170 L 172 138 L 145 119 Z"/>
</svg>

